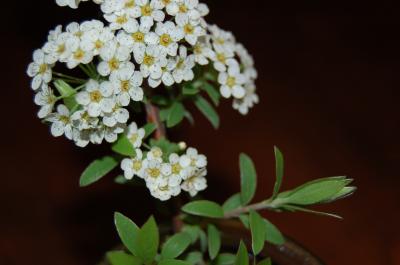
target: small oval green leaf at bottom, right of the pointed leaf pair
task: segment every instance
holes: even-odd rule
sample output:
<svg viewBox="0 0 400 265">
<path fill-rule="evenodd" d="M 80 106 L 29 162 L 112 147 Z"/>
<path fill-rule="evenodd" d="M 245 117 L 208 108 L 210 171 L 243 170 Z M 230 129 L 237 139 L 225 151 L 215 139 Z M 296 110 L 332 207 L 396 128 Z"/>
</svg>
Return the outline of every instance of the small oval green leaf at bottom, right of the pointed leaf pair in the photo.
<svg viewBox="0 0 400 265">
<path fill-rule="evenodd" d="M 173 235 L 165 242 L 162 250 L 162 259 L 173 259 L 181 255 L 191 243 L 191 238 L 188 234 L 181 232 Z"/>
</svg>

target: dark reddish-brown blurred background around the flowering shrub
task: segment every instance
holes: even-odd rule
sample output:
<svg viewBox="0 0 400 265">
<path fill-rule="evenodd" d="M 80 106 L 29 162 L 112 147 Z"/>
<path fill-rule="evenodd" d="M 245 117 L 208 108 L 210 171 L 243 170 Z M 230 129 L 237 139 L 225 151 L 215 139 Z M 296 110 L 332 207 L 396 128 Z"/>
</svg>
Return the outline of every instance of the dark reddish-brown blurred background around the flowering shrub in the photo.
<svg viewBox="0 0 400 265">
<path fill-rule="evenodd" d="M 25 70 L 49 29 L 81 21 L 83 12 L 91 18 L 97 7 L 10 2 L 1 4 L 0 264 L 94 264 L 118 242 L 113 211 L 148 215 L 151 198 L 111 177 L 78 188 L 81 171 L 105 150 L 52 138 L 35 117 Z M 244 151 L 257 165 L 264 198 L 277 145 L 286 158 L 284 188 L 343 174 L 359 187 L 353 197 L 318 208 L 343 221 L 268 214 L 283 232 L 327 264 L 400 264 L 396 1 L 208 2 L 208 20 L 233 31 L 254 55 L 261 103 L 241 117 L 224 102 L 220 130 L 196 114 L 195 127 L 175 133 L 207 154 L 206 195 L 222 201 L 239 189 Z"/>
</svg>

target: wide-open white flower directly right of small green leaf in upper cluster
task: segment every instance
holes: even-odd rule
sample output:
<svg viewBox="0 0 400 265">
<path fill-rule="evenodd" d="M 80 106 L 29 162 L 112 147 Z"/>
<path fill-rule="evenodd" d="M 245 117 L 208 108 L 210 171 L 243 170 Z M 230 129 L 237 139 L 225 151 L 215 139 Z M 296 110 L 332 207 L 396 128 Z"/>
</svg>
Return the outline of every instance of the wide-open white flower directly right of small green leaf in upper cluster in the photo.
<svg viewBox="0 0 400 265">
<path fill-rule="evenodd" d="M 89 80 L 85 90 L 76 95 L 76 101 L 87 107 L 88 114 L 91 117 L 98 117 L 102 113 L 112 112 L 115 106 L 115 100 L 112 98 L 114 89 L 109 81 L 99 84 L 95 80 Z"/>
</svg>

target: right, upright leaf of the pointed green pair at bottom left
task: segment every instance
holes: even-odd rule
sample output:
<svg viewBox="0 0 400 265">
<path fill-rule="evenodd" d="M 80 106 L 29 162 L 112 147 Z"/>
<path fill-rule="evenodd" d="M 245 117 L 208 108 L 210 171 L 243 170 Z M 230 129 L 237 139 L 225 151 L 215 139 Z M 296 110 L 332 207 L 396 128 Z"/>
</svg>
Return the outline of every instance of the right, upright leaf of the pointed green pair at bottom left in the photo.
<svg viewBox="0 0 400 265">
<path fill-rule="evenodd" d="M 141 258 L 144 264 L 151 264 L 157 255 L 160 242 L 158 227 L 153 216 L 139 230 L 136 242 L 138 250 L 136 256 Z"/>
</svg>

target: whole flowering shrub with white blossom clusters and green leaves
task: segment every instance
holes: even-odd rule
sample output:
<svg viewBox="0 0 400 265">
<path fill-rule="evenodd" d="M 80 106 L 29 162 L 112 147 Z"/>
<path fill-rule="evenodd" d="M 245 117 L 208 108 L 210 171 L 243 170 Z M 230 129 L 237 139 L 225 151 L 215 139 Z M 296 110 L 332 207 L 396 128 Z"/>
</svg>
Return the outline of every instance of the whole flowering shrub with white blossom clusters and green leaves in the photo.
<svg viewBox="0 0 400 265">
<path fill-rule="evenodd" d="M 58 5 L 71 8 L 78 8 L 80 2 L 56 0 Z M 221 98 L 231 98 L 233 108 L 247 114 L 259 101 L 253 58 L 232 33 L 206 22 L 208 7 L 198 0 L 93 2 L 100 5 L 101 20 L 57 26 L 43 47 L 33 53 L 27 73 L 32 78 L 34 102 L 40 106 L 38 117 L 50 125 L 53 136 L 64 135 L 77 146 L 111 144 L 113 154 L 89 165 L 81 176 L 81 186 L 98 181 L 120 165 L 123 177 L 117 177 L 117 182 L 142 179 L 159 200 L 169 200 L 182 191 L 196 196 L 207 188 L 207 158 L 183 142 L 170 142 L 166 127 L 177 126 L 185 118 L 193 122 L 185 106 L 190 102 L 215 128 L 219 117 L 213 105 Z M 143 114 L 147 122 L 143 122 Z M 244 244 L 236 257 L 219 254 L 218 228 L 209 222 L 206 234 L 204 227 L 186 222 L 187 217 L 240 218 L 252 232 L 253 253 L 257 255 L 265 240 L 284 242 L 258 210 L 311 212 L 305 207 L 354 191 L 347 186 L 351 180 L 335 177 L 280 193 L 283 156 L 277 148 L 275 154 L 277 181 L 271 198 L 249 204 L 256 189 L 256 173 L 251 159 L 242 154 L 241 193 L 223 206 L 205 200 L 186 204 L 182 211 L 187 216 L 181 216 L 179 231 L 167 239 L 160 254 L 154 218 L 139 229 L 127 217 L 116 214 L 118 233 L 131 254 L 110 252 L 108 261 L 113 265 L 154 261 L 232 264 L 235 260 L 236 264 L 247 264 Z M 207 236 L 208 259 L 201 252 L 186 252 Z M 218 259 L 226 262 L 218 263 Z"/>
</svg>

